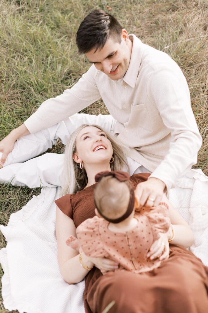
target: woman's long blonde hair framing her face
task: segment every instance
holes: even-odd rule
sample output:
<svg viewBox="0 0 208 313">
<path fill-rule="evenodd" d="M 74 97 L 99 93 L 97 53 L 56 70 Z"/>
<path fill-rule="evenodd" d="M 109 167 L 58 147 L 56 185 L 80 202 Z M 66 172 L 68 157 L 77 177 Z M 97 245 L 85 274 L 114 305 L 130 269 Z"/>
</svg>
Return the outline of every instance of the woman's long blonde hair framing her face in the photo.
<svg viewBox="0 0 208 313">
<path fill-rule="evenodd" d="M 62 174 L 62 188 L 61 196 L 68 193 L 76 193 L 87 185 L 88 178 L 85 169 L 80 169 L 80 164 L 73 160 L 73 154 L 76 152 L 76 138 L 79 132 L 87 127 L 94 126 L 101 131 L 106 133 L 106 137 L 111 142 L 113 148 L 114 162 L 110 163 L 111 171 L 122 171 L 123 167 L 126 167 L 126 171 L 129 171 L 127 164 L 127 154 L 128 148 L 124 146 L 118 139 L 110 134 L 109 131 L 104 130 L 104 128 L 98 125 L 88 125 L 83 124 L 78 127 L 70 136 L 69 141 L 65 147 L 65 157 L 64 157 L 64 168 Z"/>
</svg>

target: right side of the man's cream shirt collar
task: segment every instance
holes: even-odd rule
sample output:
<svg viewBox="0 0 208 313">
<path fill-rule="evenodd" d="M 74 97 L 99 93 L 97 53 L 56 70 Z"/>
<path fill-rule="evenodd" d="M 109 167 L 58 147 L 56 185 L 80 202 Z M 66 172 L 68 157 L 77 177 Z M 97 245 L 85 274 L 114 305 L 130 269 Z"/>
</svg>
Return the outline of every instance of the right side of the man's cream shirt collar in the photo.
<svg viewBox="0 0 208 313">
<path fill-rule="evenodd" d="M 123 80 L 129 86 L 134 88 L 136 85 L 144 48 L 143 48 L 143 43 L 141 42 L 139 38 L 137 38 L 134 34 L 130 34 L 129 36 L 133 37 L 133 46 L 132 46 L 130 63 L 126 71 L 126 74 L 123 76 Z"/>
</svg>

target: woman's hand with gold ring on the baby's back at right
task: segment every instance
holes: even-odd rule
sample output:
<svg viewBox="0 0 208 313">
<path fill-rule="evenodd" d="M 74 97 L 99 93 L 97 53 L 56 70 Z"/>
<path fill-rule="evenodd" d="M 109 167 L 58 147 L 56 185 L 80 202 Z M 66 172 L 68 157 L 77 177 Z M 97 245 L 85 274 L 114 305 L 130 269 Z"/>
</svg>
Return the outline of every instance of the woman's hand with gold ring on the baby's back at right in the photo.
<svg viewBox="0 0 208 313">
<path fill-rule="evenodd" d="M 156 240 L 148 251 L 147 257 L 151 260 L 159 258 L 159 260 L 166 260 L 169 257 L 169 242 L 167 233 L 159 233 L 160 238 Z"/>
</svg>

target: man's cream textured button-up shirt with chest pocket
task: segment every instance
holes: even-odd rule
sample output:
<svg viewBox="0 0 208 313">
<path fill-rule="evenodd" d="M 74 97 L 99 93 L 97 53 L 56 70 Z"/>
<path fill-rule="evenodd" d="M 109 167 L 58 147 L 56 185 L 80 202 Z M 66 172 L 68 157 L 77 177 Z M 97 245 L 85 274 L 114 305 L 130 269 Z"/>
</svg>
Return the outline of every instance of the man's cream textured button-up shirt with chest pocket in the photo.
<svg viewBox="0 0 208 313">
<path fill-rule="evenodd" d="M 122 79 L 94 64 L 71 88 L 44 101 L 26 121 L 31 133 L 74 115 L 102 97 L 117 121 L 112 130 L 129 156 L 165 182 L 167 190 L 197 162 L 201 136 L 186 79 L 171 57 L 131 34 L 132 54 Z"/>
</svg>

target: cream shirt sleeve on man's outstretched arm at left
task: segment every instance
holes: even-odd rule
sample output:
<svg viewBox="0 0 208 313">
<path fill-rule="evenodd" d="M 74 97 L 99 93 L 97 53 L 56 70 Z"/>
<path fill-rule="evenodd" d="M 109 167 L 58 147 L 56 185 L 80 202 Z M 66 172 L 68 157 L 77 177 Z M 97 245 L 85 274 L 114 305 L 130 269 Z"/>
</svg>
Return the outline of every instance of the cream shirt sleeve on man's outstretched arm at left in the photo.
<svg viewBox="0 0 208 313">
<path fill-rule="evenodd" d="M 44 101 L 24 123 L 31 133 L 48 128 L 85 109 L 101 96 L 95 82 L 98 70 L 92 65 L 87 73 L 62 95 Z"/>
</svg>

